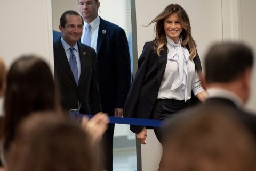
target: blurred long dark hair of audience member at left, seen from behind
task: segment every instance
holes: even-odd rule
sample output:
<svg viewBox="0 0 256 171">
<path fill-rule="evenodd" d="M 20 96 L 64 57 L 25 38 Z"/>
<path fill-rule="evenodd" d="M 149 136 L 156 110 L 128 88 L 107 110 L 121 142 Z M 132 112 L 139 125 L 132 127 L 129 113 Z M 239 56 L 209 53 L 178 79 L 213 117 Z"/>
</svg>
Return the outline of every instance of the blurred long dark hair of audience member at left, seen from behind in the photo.
<svg viewBox="0 0 256 171">
<path fill-rule="evenodd" d="M 4 110 L 4 148 L 9 147 L 17 124 L 31 112 L 55 110 L 58 98 L 49 65 L 36 55 L 23 55 L 7 73 Z"/>
</svg>

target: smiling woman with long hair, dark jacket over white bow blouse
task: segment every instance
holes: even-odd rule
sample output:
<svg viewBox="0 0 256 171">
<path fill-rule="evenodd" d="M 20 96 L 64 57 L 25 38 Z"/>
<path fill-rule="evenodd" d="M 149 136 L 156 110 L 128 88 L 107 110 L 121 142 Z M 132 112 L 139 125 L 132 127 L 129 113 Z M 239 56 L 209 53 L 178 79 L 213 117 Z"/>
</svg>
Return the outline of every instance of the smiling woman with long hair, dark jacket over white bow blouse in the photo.
<svg viewBox="0 0 256 171">
<path fill-rule="evenodd" d="M 165 120 L 190 106 L 194 95 L 200 101 L 207 95 L 199 80 L 201 63 L 186 11 L 171 4 L 152 23 L 156 37 L 143 47 L 124 116 Z M 130 130 L 141 144 L 146 144 L 145 126 L 131 125 Z M 161 128 L 154 127 L 154 131 L 162 142 Z"/>
</svg>

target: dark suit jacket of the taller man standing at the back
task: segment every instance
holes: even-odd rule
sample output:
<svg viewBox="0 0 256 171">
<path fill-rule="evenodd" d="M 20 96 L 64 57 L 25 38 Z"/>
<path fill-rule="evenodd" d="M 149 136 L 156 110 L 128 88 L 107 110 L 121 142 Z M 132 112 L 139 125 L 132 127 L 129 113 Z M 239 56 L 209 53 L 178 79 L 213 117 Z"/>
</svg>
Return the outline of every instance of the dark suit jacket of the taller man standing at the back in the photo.
<svg viewBox="0 0 256 171">
<path fill-rule="evenodd" d="M 114 108 L 124 107 L 131 86 L 130 55 L 124 30 L 101 18 L 97 59 L 102 111 L 113 116 Z"/>
</svg>

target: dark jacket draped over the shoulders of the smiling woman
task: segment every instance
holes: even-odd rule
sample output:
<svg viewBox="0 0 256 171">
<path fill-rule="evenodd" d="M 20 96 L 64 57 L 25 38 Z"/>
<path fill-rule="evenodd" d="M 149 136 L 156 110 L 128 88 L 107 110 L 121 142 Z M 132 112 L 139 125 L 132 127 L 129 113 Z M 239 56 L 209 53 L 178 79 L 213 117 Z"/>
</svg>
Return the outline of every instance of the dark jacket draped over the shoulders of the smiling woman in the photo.
<svg viewBox="0 0 256 171">
<path fill-rule="evenodd" d="M 194 59 L 196 69 L 201 71 L 201 62 L 197 55 Z M 124 105 L 124 117 L 151 118 L 151 112 L 157 99 L 165 67 L 167 63 L 167 47 L 158 57 L 154 50 L 154 42 L 146 42 L 138 60 L 138 70 Z M 131 125 L 130 130 L 138 133 L 143 126 Z"/>
</svg>

